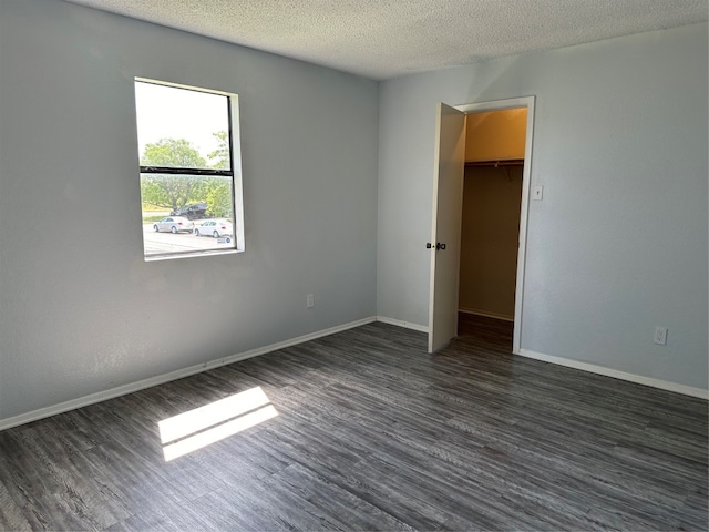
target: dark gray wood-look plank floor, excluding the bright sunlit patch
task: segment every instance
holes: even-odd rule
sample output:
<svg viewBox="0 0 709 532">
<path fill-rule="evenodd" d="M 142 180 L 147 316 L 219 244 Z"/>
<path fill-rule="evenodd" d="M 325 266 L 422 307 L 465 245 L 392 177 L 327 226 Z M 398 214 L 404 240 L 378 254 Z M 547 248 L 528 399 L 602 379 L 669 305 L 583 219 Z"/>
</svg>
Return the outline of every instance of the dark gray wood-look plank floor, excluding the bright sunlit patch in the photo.
<svg viewBox="0 0 709 532">
<path fill-rule="evenodd" d="M 707 530 L 706 401 L 505 341 L 371 324 L 6 430 L 0 529 Z M 258 386 L 277 417 L 164 460 Z"/>
</svg>

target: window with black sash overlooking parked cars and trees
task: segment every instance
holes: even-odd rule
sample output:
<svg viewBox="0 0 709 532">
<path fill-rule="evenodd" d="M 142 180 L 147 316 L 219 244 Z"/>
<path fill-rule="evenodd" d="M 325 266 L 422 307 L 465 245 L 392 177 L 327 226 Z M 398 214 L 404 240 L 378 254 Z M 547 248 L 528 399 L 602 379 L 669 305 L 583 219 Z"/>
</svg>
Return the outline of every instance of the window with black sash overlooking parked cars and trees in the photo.
<svg viewBox="0 0 709 532">
<path fill-rule="evenodd" d="M 244 249 L 236 94 L 135 80 L 146 260 Z"/>
</svg>

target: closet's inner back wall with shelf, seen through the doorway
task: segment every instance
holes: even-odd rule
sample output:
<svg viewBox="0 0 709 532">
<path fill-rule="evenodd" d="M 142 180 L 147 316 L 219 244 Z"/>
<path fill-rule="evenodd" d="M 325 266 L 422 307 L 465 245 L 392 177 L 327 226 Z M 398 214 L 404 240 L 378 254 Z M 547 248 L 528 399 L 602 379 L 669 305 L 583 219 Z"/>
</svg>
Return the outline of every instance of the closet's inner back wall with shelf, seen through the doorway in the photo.
<svg viewBox="0 0 709 532">
<path fill-rule="evenodd" d="M 526 109 L 466 115 L 459 309 L 514 320 Z"/>
</svg>

